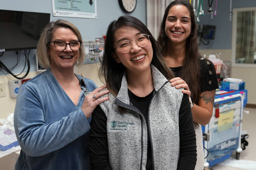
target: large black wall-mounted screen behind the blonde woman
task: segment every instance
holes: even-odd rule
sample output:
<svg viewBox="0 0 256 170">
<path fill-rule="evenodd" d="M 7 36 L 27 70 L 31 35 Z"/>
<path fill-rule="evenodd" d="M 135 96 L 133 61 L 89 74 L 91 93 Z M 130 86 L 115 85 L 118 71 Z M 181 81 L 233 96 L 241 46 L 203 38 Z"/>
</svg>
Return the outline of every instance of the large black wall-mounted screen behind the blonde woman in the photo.
<svg viewBox="0 0 256 170">
<path fill-rule="evenodd" d="M 49 13 L 0 10 L 0 49 L 36 49 Z"/>
</svg>

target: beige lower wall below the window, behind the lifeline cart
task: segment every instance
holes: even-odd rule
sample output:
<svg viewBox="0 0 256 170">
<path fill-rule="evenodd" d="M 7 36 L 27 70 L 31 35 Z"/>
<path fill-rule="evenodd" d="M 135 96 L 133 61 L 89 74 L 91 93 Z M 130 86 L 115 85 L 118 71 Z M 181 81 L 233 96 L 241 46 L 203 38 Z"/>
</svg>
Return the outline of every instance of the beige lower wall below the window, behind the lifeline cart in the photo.
<svg viewBox="0 0 256 170">
<path fill-rule="evenodd" d="M 223 61 L 231 61 L 231 49 L 230 50 L 200 50 L 201 55 L 206 54 L 206 57 L 209 54 L 219 54 L 221 53 L 221 59 Z M 231 77 L 232 78 L 241 78 L 245 82 L 245 89 L 248 90 L 248 104 L 256 104 L 256 67 L 233 67 L 231 68 Z"/>
</svg>

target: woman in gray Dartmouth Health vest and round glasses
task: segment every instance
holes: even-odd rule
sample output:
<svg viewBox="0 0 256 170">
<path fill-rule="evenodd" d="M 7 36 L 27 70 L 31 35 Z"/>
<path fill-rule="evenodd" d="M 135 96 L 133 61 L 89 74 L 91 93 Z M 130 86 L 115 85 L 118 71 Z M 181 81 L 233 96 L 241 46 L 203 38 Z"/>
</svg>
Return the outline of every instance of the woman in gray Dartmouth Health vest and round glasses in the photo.
<svg viewBox="0 0 256 170">
<path fill-rule="evenodd" d="M 99 75 L 110 93 L 92 114 L 92 169 L 194 169 L 188 95 L 169 83 L 174 76 L 140 20 L 109 24 Z"/>
</svg>

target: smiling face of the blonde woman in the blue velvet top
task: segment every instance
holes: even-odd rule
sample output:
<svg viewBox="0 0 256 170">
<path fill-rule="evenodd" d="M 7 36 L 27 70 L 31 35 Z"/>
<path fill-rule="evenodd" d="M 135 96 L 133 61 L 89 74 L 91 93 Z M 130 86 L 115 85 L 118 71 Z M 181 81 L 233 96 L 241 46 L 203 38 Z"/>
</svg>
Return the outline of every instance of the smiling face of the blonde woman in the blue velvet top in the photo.
<svg viewBox="0 0 256 170">
<path fill-rule="evenodd" d="M 70 43 L 72 41 L 78 41 L 78 38 L 69 28 L 60 27 L 54 31 L 51 41 L 63 41 Z M 73 70 L 73 67 L 79 57 L 79 50 L 72 51 L 70 46 L 67 45 L 64 51 L 58 51 L 55 49 L 54 43 L 50 43 L 48 53 L 51 58 L 51 69 L 57 69 L 60 71 L 69 69 Z"/>
</svg>

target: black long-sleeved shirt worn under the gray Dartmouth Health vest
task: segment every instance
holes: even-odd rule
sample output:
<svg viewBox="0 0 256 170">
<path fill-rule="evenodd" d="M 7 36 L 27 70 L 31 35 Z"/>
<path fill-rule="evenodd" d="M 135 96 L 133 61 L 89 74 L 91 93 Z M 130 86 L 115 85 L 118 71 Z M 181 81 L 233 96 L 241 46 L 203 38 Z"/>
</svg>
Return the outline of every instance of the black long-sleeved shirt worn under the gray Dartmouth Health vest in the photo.
<svg viewBox="0 0 256 170">
<path fill-rule="evenodd" d="M 153 97 L 152 91 L 146 97 L 138 97 L 128 89 L 129 99 L 132 105 L 137 107 L 144 115 L 148 130 L 148 149 L 146 169 L 152 169 L 151 142 L 149 138 L 148 107 Z M 108 144 L 106 131 L 107 117 L 102 109 L 97 106 L 92 114 L 90 123 L 89 153 L 91 169 L 110 170 L 108 162 Z M 180 154 L 177 169 L 194 169 L 196 164 L 196 141 L 192 121 L 192 113 L 188 95 L 184 94 L 179 110 Z"/>
</svg>

